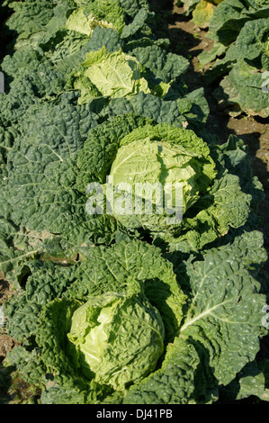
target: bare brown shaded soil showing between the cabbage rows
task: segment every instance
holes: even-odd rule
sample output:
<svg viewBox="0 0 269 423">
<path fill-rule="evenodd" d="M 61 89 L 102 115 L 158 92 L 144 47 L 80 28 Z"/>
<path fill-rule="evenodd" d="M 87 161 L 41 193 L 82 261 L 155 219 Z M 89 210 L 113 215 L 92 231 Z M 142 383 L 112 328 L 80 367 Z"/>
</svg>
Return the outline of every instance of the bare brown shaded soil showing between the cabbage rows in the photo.
<svg viewBox="0 0 269 423">
<path fill-rule="evenodd" d="M 269 120 L 257 119 L 242 114 L 231 117 L 229 113 L 220 108 L 212 95 L 214 85 L 208 85 L 204 78 L 204 69 L 199 67 L 197 56 L 203 49 L 211 49 L 211 40 L 207 38 L 207 29 L 196 27 L 190 17 L 184 14 L 183 7 L 177 7 L 175 2 L 169 0 L 149 0 L 151 9 L 156 13 L 157 36 L 169 38 L 171 50 L 189 58 L 191 69 L 185 76 L 186 84 L 190 91 L 203 87 L 206 99 L 210 106 L 210 116 L 206 129 L 216 133 L 220 142 L 227 141 L 230 134 L 236 134 L 243 139 L 249 148 L 253 159 L 253 172 L 264 184 L 265 200 L 260 204 L 259 214 L 264 218 L 261 230 L 265 235 L 265 248 L 269 252 Z M 269 101 L 269 97 L 268 97 Z M 265 265 L 269 271 L 269 264 Z M 0 280 L 0 306 L 12 291 L 7 281 Z M 1 322 L 0 322 L 1 323 Z M 16 344 L 15 340 L 4 333 L 0 326 L 0 363 L 7 351 Z"/>
</svg>

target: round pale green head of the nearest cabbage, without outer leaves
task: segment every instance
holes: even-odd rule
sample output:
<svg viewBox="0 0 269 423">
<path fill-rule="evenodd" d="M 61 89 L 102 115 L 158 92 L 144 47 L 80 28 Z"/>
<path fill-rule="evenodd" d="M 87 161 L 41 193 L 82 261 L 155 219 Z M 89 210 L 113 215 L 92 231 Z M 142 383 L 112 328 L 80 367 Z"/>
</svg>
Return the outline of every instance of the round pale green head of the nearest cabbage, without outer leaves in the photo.
<svg viewBox="0 0 269 423">
<path fill-rule="evenodd" d="M 74 312 L 68 351 L 86 377 L 121 390 L 155 369 L 164 336 L 161 316 L 144 295 L 108 293 Z"/>
</svg>

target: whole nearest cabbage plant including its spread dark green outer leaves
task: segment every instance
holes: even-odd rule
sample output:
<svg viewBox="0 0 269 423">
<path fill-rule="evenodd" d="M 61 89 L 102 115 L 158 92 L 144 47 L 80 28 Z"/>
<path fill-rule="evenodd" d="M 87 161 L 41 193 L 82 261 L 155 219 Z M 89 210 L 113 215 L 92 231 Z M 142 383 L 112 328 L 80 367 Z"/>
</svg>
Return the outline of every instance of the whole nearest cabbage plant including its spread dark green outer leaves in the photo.
<svg viewBox="0 0 269 423">
<path fill-rule="evenodd" d="M 5 368 L 15 366 L 42 404 L 266 397 L 256 363 L 266 298 L 252 270 L 265 262 L 262 244 L 253 231 L 174 263 L 136 240 L 82 247 L 68 265 L 31 260 L 4 307 L 21 343 Z"/>
</svg>

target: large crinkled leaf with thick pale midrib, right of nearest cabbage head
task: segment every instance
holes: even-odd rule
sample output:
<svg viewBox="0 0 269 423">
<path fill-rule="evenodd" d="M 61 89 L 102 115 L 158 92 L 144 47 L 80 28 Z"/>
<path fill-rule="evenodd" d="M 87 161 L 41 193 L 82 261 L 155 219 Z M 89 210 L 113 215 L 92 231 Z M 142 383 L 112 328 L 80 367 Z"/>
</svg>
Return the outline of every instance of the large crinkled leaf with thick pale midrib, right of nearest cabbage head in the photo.
<svg viewBox="0 0 269 423">
<path fill-rule="evenodd" d="M 259 350 L 265 297 L 229 246 L 209 252 L 203 262 L 189 262 L 186 274 L 193 296 L 180 336 L 194 346 L 202 343 L 214 375 L 226 385 Z M 210 333 L 215 333 L 215 342 Z"/>
</svg>

